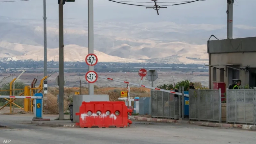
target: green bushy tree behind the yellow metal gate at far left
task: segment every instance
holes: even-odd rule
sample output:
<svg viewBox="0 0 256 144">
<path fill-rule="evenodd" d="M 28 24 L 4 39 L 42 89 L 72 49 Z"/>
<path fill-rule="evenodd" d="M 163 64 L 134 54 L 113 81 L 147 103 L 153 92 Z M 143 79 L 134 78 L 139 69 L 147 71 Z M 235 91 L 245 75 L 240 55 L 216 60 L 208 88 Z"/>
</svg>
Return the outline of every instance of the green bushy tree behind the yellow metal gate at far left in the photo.
<svg viewBox="0 0 256 144">
<path fill-rule="evenodd" d="M 24 82 L 16 81 L 14 89 L 24 89 L 25 86 L 26 86 L 26 84 Z M 13 87 L 13 85 L 12 85 L 12 87 Z M 2 84 L 1 90 L 9 90 L 9 89 L 10 89 L 10 83 Z M 17 91 L 14 92 L 14 95 L 17 96 L 17 95 L 20 95 L 20 93 L 23 93 L 23 92 L 24 92 L 24 90 L 17 90 Z M 13 93 L 13 91 L 12 91 L 12 93 Z M 2 95 L 2 96 L 9 96 L 10 95 L 10 91 L 0 92 L 0 95 Z M 0 99 L 0 102 L 3 102 L 3 101 L 5 101 L 5 100 L 4 99 Z"/>
</svg>

